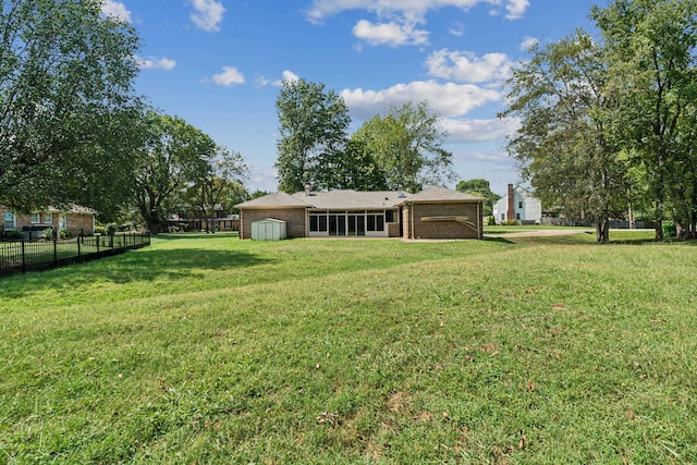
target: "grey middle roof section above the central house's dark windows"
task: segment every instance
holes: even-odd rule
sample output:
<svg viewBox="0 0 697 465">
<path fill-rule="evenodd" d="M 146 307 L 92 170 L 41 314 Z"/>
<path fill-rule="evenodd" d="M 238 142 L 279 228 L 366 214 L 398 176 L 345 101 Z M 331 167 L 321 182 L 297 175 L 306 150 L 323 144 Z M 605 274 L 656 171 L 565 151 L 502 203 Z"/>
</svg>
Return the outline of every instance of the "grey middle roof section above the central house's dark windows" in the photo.
<svg viewBox="0 0 697 465">
<path fill-rule="evenodd" d="M 353 191 L 298 192 L 293 197 L 302 199 L 313 208 L 328 210 L 371 210 L 393 208 L 408 198 L 408 194 L 398 191 Z"/>
</svg>

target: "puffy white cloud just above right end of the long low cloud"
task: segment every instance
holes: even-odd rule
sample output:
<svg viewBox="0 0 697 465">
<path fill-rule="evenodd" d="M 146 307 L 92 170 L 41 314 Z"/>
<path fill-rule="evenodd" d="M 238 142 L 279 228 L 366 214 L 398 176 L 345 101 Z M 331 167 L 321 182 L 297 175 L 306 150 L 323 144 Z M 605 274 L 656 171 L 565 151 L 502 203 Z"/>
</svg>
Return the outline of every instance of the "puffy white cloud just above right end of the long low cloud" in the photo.
<svg viewBox="0 0 697 465">
<path fill-rule="evenodd" d="M 426 60 L 428 74 L 466 83 L 486 83 L 509 77 L 511 61 L 505 53 L 487 53 L 477 57 L 468 51 L 442 49 Z"/>
</svg>

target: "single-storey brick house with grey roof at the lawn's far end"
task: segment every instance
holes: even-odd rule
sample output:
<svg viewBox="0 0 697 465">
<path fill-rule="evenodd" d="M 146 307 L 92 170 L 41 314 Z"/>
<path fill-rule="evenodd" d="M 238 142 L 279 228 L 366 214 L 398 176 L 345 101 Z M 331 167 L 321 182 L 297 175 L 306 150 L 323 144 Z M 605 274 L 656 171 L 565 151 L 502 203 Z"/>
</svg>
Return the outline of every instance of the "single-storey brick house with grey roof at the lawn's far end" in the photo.
<svg viewBox="0 0 697 465">
<path fill-rule="evenodd" d="M 484 199 L 442 187 L 396 191 L 282 192 L 240 205 L 240 238 L 252 223 L 285 221 L 289 237 L 481 238 Z"/>
</svg>

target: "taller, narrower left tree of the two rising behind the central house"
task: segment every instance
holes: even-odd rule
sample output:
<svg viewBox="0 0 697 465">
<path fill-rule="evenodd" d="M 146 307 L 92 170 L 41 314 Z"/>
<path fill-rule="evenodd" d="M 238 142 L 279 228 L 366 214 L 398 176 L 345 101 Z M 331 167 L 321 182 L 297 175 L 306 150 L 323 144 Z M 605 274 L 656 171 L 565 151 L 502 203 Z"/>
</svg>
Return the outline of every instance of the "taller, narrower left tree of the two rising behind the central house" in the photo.
<svg viewBox="0 0 697 465">
<path fill-rule="evenodd" d="M 351 117 L 343 98 L 321 83 L 284 81 L 276 100 L 281 138 L 276 168 L 279 189 L 299 192 L 313 184 L 322 155 L 346 142 Z"/>
</svg>

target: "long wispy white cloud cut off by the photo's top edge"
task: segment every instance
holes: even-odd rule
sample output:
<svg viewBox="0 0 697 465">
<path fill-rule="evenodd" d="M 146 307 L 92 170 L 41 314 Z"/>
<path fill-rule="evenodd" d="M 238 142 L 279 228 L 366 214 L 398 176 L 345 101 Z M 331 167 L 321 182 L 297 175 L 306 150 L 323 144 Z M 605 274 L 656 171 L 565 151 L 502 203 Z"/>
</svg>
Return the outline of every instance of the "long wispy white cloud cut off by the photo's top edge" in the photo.
<svg viewBox="0 0 697 465">
<path fill-rule="evenodd" d="M 323 19 L 348 10 L 366 10 L 378 14 L 400 13 L 405 16 L 423 17 L 429 10 L 455 7 L 469 10 L 478 4 L 490 4 L 508 11 L 506 17 L 521 17 L 529 7 L 528 0 L 314 0 L 307 10 L 307 19 L 320 23 Z"/>
</svg>

